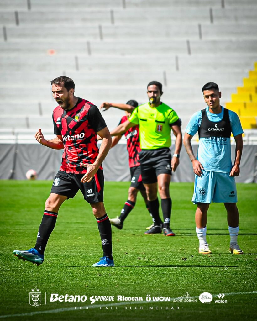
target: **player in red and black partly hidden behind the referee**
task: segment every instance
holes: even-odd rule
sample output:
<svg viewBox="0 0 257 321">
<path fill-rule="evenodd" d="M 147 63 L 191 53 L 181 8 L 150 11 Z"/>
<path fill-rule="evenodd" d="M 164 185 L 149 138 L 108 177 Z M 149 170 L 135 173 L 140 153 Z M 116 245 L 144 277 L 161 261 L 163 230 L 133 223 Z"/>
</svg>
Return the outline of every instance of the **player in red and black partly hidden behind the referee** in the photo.
<svg viewBox="0 0 257 321">
<path fill-rule="evenodd" d="M 128 117 L 130 117 L 133 110 L 136 107 L 138 107 L 138 103 L 136 100 L 129 100 L 128 102 L 126 102 L 126 104 L 104 102 L 101 104 L 100 109 L 104 108 L 104 111 L 105 111 L 105 110 L 108 110 L 110 107 L 118 108 L 125 111 L 126 116 L 123 116 L 121 118 L 121 121 L 119 123 L 120 125 L 124 123 L 126 120 L 128 120 Z M 112 134 L 112 131 L 111 131 L 111 134 Z M 131 184 L 128 190 L 128 199 L 125 202 L 123 209 L 121 210 L 120 216 L 117 216 L 115 219 L 110 219 L 111 224 L 116 226 L 120 230 L 123 228 L 124 220 L 136 205 L 137 194 L 139 191 L 145 201 L 146 208 L 149 211 L 147 195 L 145 192 L 145 187 L 142 183 L 142 176 L 141 176 L 140 163 L 139 163 L 139 153 L 141 152 L 140 140 L 139 140 L 139 126 L 137 125 L 137 126 L 131 127 L 127 132 L 124 133 L 124 136 L 127 140 L 127 151 L 129 154 Z M 116 146 L 116 144 L 119 142 L 121 137 L 122 135 L 114 136 L 112 138 L 111 147 Z M 150 226 L 147 229 L 150 229 L 151 227 L 152 226 Z"/>
</svg>

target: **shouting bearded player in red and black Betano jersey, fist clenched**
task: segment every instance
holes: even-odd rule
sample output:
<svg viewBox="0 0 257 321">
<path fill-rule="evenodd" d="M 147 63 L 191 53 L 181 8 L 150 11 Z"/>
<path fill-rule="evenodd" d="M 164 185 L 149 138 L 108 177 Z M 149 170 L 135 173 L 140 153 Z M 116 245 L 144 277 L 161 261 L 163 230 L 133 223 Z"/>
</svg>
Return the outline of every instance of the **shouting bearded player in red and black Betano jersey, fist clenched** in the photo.
<svg viewBox="0 0 257 321">
<path fill-rule="evenodd" d="M 88 100 L 74 96 L 75 85 L 71 78 L 58 77 L 51 81 L 51 85 L 53 97 L 58 103 L 53 112 L 56 138 L 46 140 L 41 129 L 35 138 L 49 148 L 64 149 L 62 164 L 46 200 L 35 247 L 26 251 L 14 250 L 13 254 L 24 261 L 42 264 L 60 206 L 80 189 L 97 220 L 103 248 L 103 257 L 93 266 L 114 266 L 111 224 L 103 203 L 104 175 L 101 165 L 112 144 L 110 132 L 99 109 Z M 102 139 L 100 149 L 97 135 Z"/>
</svg>

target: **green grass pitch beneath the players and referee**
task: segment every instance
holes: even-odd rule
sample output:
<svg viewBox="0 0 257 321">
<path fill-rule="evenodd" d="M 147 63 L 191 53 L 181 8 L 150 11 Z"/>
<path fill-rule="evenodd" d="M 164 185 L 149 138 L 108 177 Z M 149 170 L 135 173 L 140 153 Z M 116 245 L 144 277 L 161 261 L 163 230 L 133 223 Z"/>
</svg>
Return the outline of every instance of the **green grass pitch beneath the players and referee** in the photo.
<svg viewBox="0 0 257 321">
<path fill-rule="evenodd" d="M 105 206 L 116 217 L 127 199 L 129 182 L 105 183 Z M 244 255 L 229 253 L 223 204 L 211 204 L 207 241 L 211 255 L 198 254 L 193 184 L 170 187 L 172 229 L 176 237 L 145 236 L 151 223 L 141 195 L 123 230 L 113 228 L 115 267 L 93 268 L 102 255 L 97 223 L 80 192 L 61 207 L 55 230 L 36 266 L 14 257 L 14 249 L 33 247 L 50 181 L 1 181 L 0 319 L 3 320 L 255 320 L 256 319 L 256 195 L 257 185 L 237 184 Z M 29 304 L 31 289 L 41 292 L 41 305 Z M 174 302 L 188 294 L 196 302 Z M 210 304 L 198 299 L 213 295 Z M 49 302 L 51 293 L 86 295 L 85 302 Z M 215 302 L 224 293 L 224 303 Z M 45 302 L 45 295 L 47 302 Z M 114 296 L 112 302 L 90 304 L 91 296 Z M 117 301 L 117 295 L 143 301 Z M 171 301 L 146 301 L 170 297 Z M 75 309 L 75 307 L 77 307 Z M 81 309 L 82 307 L 82 309 Z M 91 308 L 93 307 L 93 309 Z"/>
</svg>

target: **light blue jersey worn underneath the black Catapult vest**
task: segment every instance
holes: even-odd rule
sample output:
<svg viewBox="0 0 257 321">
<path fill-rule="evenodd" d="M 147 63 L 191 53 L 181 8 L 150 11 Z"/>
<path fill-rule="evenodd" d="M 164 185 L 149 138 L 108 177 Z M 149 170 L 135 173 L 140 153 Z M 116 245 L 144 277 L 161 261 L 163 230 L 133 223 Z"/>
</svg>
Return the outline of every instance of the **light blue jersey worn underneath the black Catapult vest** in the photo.
<svg viewBox="0 0 257 321">
<path fill-rule="evenodd" d="M 224 108 L 222 107 L 220 114 L 212 114 L 207 106 L 206 113 L 210 121 L 218 123 L 223 119 Z M 228 110 L 228 115 L 233 136 L 243 134 L 244 131 L 237 114 Z M 201 125 L 201 118 L 201 110 L 194 113 L 186 126 L 185 132 L 192 136 L 196 134 Z M 232 169 L 230 138 L 200 138 L 196 159 L 200 161 L 206 171 L 230 172 Z"/>
</svg>

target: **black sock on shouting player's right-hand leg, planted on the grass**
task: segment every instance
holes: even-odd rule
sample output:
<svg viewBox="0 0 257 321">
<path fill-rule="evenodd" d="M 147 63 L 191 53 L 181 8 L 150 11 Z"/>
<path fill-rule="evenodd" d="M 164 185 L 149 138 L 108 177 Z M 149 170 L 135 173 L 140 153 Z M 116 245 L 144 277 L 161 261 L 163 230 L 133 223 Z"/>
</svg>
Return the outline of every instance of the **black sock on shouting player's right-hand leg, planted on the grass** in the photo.
<svg viewBox="0 0 257 321">
<path fill-rule="evenodd" d="M 103 256 L 108 256 L 111 260 L 112 258 L 112 228 L 111 223 L 107 214 L 96 219 L 97 226 L 100 233 L 102 248 L 103 248 Z"/>
</svg>

